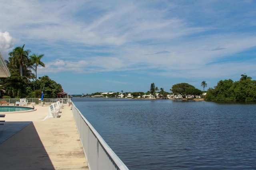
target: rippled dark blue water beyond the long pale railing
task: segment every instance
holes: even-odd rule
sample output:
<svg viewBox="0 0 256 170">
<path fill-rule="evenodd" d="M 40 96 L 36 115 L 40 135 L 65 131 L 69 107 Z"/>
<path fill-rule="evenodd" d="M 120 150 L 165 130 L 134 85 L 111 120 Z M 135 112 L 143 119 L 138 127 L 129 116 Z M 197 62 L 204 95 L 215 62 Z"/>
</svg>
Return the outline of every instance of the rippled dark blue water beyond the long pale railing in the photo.
<svg viewBox="0 0 256 170">
<path fill-rule="evenodd" d="M 256 169 L 256 104 L 73 102 L 130 170 Z"/>
</svg>

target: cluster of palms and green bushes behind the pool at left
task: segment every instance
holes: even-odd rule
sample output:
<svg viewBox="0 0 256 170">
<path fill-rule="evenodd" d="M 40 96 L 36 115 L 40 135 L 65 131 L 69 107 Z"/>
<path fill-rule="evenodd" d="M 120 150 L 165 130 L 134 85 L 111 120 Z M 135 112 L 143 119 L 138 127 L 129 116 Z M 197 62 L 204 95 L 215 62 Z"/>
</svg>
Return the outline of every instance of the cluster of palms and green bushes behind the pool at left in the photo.
<svg viewBox="0 0 256 170">
<path fill-rule="evenodd" d="M 0 78 L 1 88 L 5 91 L 1 98 L 40 98 L 42 90 L 45 98 L 55 98 L 62 86 L 46 75 L 37 78 L 37 67 L 45 67 L 41 61 L 44 55 L 29 55 L 31 51 L 24 47 L 25 44 L 8 53 L 10 57 L 5 63 L 11 76 Z"/>
</svg>

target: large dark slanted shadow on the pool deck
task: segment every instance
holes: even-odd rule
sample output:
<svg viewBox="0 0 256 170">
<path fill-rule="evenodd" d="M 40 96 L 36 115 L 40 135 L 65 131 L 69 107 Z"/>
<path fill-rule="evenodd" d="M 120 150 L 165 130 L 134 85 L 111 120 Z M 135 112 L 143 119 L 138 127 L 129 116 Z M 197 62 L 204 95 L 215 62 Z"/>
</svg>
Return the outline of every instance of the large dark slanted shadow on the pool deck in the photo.
<svg viewBox="0 0 256 170">
<path fill-rule="evenodd" d="M 53 170 L 54 166 L 44 149 L 38 133 L 32 122 L 9 122 L 16 123 L 23 127 L 18 132 L 9 131 L 7 140 L 6 134 L 8 122 L 0 127 L 0 169 L 1 170 Z M 5 131 L 6 129 L 6 131 Z M 10 130 L 10 129 L 9 129 Z"/>
</svg>

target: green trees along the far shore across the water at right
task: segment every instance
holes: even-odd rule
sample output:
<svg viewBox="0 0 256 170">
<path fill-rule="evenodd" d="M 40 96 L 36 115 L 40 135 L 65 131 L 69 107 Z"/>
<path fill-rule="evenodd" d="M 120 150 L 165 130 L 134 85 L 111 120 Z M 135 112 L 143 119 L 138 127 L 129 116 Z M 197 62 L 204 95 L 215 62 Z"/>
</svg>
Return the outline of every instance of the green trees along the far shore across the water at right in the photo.
<svg viewBox="0 0 256 170">
<path fill-rule="evenodd" d="M 200 96 L 206 92 L 206 96 L 202 95 L 206 101 L 256 102 L 256 80 L 252 80 L 252 77 L 246 74 L 241 74 L 240 80 L 235 82 L 231 79 L 220 80 L 217 86 L 208 88 L 207 91 L 204 91 L 207 87 L 206 81 L 201 82 L 201 87 L 203 91 L 188 83 L 178 83 L 174 84 L 170 91 L 174 95 L 180 94 L 182 98 L 187 96 L 195 98 L 195 96 Z M 155 87 L 154 83 L 152 83 L 149 92 L 154 94 L 157 91 L 158 87 Z M 163 89 L 161 91 L 163 92 Z M 167 92 L 164 93 L 168 94 Z"/>
</svg>

